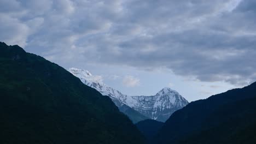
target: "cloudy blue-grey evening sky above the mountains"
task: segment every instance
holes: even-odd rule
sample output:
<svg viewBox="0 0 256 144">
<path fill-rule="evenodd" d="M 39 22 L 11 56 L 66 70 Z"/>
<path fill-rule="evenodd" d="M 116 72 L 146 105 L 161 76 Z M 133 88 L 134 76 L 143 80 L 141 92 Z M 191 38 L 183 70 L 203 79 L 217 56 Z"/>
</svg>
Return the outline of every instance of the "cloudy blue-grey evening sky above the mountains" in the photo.
<svg viewBox="0 0 256 144">
<path fill-rule="evenodd" d="M 189 101 L 256 81 L 254 0 L 0 0 L 0 41 L 128 95 Z"/>
</svg>

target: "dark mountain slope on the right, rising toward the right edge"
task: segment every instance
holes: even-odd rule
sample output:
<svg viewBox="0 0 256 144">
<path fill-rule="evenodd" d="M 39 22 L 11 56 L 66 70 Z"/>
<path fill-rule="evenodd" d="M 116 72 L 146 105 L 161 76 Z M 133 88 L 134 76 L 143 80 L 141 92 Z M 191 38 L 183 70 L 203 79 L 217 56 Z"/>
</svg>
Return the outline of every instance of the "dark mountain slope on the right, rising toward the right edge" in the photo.
<svg viewBox="0 0 256 144">
<path fill-rule="evenodd" d="M 156 143 L 256 143 L 256 83 L 191 102 L 173 113 Z"/>
</svg>

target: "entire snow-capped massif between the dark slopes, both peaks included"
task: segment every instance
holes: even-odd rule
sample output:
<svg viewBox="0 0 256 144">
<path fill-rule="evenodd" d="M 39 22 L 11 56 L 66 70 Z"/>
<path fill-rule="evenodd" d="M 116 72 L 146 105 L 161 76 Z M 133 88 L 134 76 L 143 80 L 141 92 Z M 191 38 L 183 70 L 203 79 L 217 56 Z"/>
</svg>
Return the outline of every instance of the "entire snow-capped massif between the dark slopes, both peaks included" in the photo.
<svg viewBox="0 0 256 144">
<path fill-rule="evenodd" d="M 126 113 L 133 122 L 147 118 L 165 122 L 174 111 L 188 104 L 185 98 L 171 88 L 163 88 L 153 96 L 130 96 L 107 86 L 99 79 L 99 76 L 94 76 L 87 70 L 69 68 L 68 71 L 77 76 L 85 85 L 95 88 L 102 95 L 108 95 L 119 107 L 119 110 Z M 130 108 L 141 113 L 144 117 L 139 116 Z M 138 117 L 139 119 L 137 119 Z"/>
</svg>

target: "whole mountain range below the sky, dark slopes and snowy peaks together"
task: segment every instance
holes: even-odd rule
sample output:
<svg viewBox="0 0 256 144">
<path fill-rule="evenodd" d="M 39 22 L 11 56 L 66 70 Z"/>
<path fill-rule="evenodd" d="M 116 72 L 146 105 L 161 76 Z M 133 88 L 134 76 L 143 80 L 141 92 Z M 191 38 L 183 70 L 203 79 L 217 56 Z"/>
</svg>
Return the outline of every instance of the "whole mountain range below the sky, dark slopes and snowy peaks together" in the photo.
<svg viewBox="0 0 256 144">
<path fill-rule="evenodd" d="M 184 106 L 170 88 L 124 95 L 18 45 L 0 42 L 0 66 L 0 143 L 256 143 L 256 82 Z M 133 124 L 120 107 L 152 119 Z"/>
</svg>

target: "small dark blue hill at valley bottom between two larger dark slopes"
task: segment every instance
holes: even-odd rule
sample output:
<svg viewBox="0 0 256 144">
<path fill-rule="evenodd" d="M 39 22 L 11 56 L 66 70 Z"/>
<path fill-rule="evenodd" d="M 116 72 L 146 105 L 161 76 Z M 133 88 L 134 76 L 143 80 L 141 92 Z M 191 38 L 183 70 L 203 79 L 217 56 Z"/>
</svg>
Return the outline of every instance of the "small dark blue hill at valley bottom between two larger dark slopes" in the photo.
<svg viewBox="0 0 256 144">
<path fill-rule="evenodd" d="M 162 125 L 164 125 L 163 122 L 158 122 L 154 119 L 146 119 L 136 123 L 136 127 L 146 137 L 147 143 L 152 142 L 153 137 L 158 133 Z"/>
</svg>

